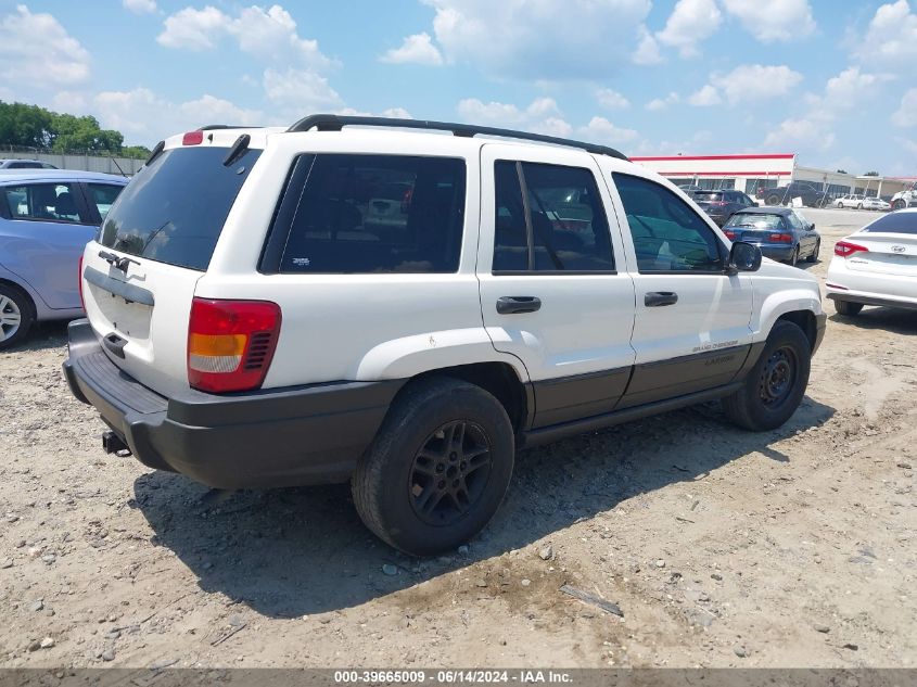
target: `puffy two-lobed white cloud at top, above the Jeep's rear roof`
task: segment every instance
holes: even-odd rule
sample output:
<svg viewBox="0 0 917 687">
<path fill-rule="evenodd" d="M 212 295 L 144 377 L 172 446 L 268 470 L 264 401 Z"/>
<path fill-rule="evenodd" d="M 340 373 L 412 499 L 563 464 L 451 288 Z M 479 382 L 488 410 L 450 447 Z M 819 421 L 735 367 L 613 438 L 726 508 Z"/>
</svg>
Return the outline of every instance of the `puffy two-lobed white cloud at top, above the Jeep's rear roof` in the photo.
<svg viewBox="0 0 917 687">
<path fill-rule="evenodd" d="M 228 36 L 235 39 L 240 50 L 267 64 L 314 69 L 333 65 L 319 50 L 318 41 L 300 37 L 296 22 L 279 4 L 267 10 L 252 5 L 234 18 L 211 5 L 203 10 L 184 8 L 166 17 L 164 26 L 156 40 L 166 48 L 213 50 Z"/>
</svg>

